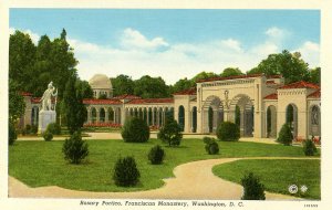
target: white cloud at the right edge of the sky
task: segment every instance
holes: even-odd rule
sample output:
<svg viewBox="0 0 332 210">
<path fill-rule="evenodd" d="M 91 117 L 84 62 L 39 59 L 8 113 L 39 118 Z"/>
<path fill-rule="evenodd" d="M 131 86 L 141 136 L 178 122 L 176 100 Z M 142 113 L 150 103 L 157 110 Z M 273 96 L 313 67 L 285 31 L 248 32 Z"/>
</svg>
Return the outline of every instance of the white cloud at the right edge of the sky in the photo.
<svg viewBox="0 0 332 210">
<path fill-rule="evenodd" d="M 320 44 L 307 41 L 293 52 L 300 52 L 302 59 L 308 62 L 310 67 L 320 66 Z"/>
</svg>

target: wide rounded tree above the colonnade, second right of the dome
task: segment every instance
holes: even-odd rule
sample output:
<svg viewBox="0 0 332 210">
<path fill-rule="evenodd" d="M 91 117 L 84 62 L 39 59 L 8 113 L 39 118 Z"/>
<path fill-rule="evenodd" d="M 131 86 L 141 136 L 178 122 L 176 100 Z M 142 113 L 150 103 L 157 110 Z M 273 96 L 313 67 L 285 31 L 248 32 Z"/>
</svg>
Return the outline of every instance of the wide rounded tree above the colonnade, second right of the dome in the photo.
<svg viewBox="0 0 332 210">
<path fill-rule="evenodd" d="M 134 94 L 143 98 L 160 98 L 169 96 L 169 88 L 159 77 L 142 76 L 135 81 Z"/>
</svg>

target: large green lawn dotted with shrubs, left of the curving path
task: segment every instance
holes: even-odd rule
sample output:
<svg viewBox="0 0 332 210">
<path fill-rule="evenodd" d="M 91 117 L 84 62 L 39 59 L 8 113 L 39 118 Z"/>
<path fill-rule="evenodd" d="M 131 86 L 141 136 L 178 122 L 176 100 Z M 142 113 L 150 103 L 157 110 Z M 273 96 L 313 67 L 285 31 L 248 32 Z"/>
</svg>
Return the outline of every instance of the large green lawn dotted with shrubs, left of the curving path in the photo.
<svg viewBox="0 0 332 210">
<path fill-rule="evenodd" d="M 31 187 L 59 186 L 91 191 L 134 191 L 158 188 L 163 178 L 173 177 L 173 169 L 184 162 L 221 157 L 304 157 L 301 147 L 257 143 L 221 143 L 220 155 L 207 155 L 201 139 L 184 139 L 178 148 L 164 147 L 165 164 L 151 165 L 147 153 L 162 144 L 151 139 L 144 144 L 123 140 L 87 140 L 90 155 L 83 165 L 64 161 L 63 141 L 17 141 L 9 147 L 9 175 Z M 117 157 L 134 156 L 141 171 L 141 183 L 133 188 L 116 187 L 112 170 Z M 280 168 L 280 170 L 282 167 Z"/>
</svg>

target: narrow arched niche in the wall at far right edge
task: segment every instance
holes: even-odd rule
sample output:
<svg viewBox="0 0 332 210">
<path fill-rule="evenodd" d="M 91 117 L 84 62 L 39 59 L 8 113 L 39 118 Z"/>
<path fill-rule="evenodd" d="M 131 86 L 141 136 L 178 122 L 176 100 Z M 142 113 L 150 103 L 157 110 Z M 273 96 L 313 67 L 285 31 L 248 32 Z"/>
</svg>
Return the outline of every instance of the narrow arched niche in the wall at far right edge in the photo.
<svg viewBox="0 0 332 210">
<path fill-rule="evenodd" d="M 309 134 L 321 136 L 321 108 L 319 105 L 312 105 L 309 109 Z"/>
</svg>

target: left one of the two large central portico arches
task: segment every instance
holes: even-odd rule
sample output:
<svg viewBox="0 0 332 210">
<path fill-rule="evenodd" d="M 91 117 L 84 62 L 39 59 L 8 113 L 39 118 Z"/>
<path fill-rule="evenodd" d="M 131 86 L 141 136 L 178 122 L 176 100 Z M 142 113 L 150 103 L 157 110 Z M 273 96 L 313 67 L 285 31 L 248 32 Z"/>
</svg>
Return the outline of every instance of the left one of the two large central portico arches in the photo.
<svg viewBox="0 0 332 210">
<path fill-rule="evenodd" d="M 216 95 L 206 98 L 203 105 L 204 133 L 216 133 L 217 127 L 224 122 L 224 106 Z"/>
</svg>

